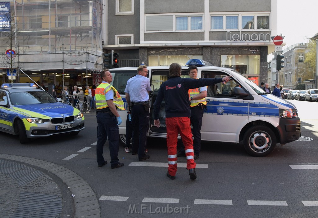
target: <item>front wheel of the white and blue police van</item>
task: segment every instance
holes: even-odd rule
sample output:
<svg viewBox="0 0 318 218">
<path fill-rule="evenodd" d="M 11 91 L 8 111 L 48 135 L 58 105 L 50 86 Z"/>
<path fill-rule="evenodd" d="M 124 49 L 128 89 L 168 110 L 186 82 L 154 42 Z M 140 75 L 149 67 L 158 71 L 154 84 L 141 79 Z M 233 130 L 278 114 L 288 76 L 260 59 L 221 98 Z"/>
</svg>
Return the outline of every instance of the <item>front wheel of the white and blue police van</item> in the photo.
<svg viewBox="0 0 318 218">
<path fill-rule="evenodd" d="M 267 126 L 252 126 L 244 134 L 243 145 L 246 152 L 255 157 L 271 153 L 276 146 L 276 136 Z"/>
</svg>

